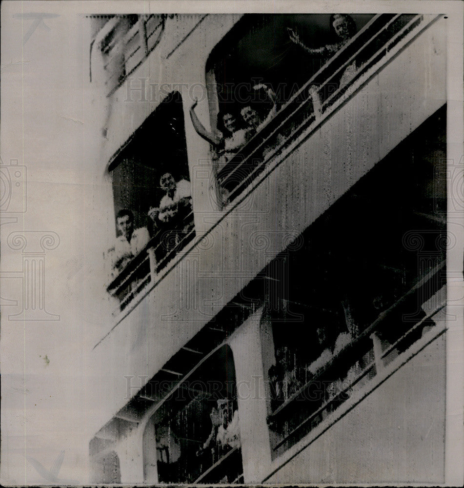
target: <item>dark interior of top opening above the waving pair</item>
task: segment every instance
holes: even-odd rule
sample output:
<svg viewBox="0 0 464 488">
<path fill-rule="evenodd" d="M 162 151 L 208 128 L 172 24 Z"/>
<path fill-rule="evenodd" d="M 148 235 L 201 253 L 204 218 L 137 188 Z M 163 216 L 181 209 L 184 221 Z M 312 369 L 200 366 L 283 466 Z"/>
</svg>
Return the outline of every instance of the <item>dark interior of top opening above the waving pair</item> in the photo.
<svg viewBox="0 0 464 488">
<path fill-rule="evenodd" d="M 372 14 L 351 14 L 355 32 Z M 252 85 L 273 88 L 279 104 L 287 102 L 330 58 L 330 54 L 308 54 L 291 40 L 289 29 L 311 48 L 340 41 L 330 27 L 331 14 L 249 14 L 224 37 L 206 66 L 216 80 L 219 110 L 242 107 L 252 96 Z M 265 102 L 263 98 L 260 100 Z"/>
</svg>

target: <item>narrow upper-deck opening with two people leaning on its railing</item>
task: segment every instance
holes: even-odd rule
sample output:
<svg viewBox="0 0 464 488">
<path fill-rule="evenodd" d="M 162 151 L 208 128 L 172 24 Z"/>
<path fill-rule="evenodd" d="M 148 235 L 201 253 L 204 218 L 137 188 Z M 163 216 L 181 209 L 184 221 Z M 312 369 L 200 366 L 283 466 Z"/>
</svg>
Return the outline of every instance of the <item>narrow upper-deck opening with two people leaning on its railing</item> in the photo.
<svg viewBox="0 0 464 488">
<path fill-rule="evenodd" d="M 108 291 L 121 308 L 195 234 L 182 98 L 171 93 L 134 132 L 109 166 L 117 233 L 106 255 Z M 121 227 L 121 211 L 133 233 Z M 125 232 L 125 233 L 124 233 Z"/>
</svg>

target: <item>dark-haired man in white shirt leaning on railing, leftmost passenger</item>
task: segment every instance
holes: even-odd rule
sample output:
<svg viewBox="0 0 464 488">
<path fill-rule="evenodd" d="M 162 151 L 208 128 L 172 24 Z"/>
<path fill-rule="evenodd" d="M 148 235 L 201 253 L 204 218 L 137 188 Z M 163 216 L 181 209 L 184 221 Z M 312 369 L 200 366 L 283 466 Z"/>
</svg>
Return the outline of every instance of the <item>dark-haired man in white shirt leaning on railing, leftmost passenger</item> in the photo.
<svg viewBox="0 0 464 488">
<path fill-rule="evenodd" d="M 134 229 L 134 214 L 127 209 L 120 210 L 116 222 L 121 235 L 116 238 L 112 254 L 113 277 L 148 244 L 150 236 L 146 227 Z"/>
</svg>

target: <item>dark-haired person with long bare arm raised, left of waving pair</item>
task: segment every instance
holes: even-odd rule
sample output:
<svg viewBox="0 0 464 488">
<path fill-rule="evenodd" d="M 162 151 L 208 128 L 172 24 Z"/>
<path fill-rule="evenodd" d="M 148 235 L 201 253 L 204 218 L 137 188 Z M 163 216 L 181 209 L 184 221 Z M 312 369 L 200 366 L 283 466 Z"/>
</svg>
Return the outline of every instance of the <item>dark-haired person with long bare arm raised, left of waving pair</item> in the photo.
<svg viewBox="0 0 464 488">
<path fill-rule="evenodd" d="M 242 126 L 241 119 L 235 113 L 235 110 L 230 109 L 219 112 L 218 133 L 208 132 L 195 113 L 197 104 L 198 100 L 195 99 L 195 102 L 190 107 L 190 118 L 192 119 L 193 127 L 200 137 L 213 145 L 217 159 L 223 157 L 222 164 L 218 168 L 220 170 L 245 144 L 247 130 Z"/>
</svg>

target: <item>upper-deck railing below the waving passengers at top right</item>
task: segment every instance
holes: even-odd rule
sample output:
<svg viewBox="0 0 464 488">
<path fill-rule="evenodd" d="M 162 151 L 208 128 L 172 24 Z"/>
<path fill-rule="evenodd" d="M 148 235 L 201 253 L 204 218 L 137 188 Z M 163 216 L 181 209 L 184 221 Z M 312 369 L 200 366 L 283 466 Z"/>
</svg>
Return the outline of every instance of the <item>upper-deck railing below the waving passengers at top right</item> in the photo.
<svg viewBox="0 0 464 488">
<path fill-rule="evenodd" d="M 432 18 L 433 17 L 433 18 Z M 315 73 L 219 172 L 218 183 L 234 200 L 276 154 L 335 104 L 349 87 L 420 24 L 440 16 L 379 14 Z M 351 70 L 351 73 L 350 73 Z M 224 202 L 227 203 L 227 202 Z"/>
</svg>

